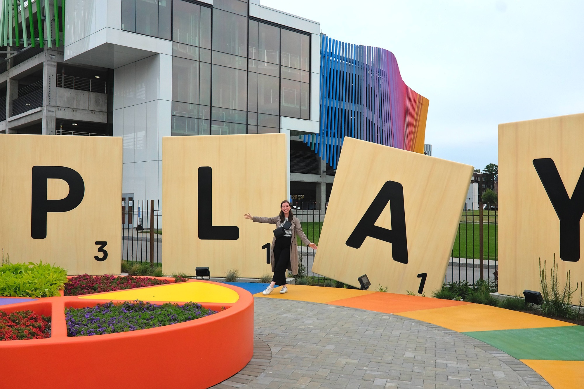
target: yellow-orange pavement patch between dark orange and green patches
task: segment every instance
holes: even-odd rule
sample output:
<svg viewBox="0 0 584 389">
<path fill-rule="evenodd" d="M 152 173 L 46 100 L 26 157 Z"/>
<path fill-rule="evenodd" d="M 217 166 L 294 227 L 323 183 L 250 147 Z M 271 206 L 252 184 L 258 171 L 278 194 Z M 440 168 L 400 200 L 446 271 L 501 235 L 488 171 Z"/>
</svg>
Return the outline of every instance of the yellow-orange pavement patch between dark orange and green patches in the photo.
<svg viewBox="0 0 584 389">
<path fill-rule="evenodd" d="M 397 315 L 440 325 L 441 327 L 453 329 L 457 332 L 575 325 L 566 323 L 565 321 L 531 315 L 524 312 L 504 310 L 503 308 L 482 304 L 399 312 Z"/>
</svg>

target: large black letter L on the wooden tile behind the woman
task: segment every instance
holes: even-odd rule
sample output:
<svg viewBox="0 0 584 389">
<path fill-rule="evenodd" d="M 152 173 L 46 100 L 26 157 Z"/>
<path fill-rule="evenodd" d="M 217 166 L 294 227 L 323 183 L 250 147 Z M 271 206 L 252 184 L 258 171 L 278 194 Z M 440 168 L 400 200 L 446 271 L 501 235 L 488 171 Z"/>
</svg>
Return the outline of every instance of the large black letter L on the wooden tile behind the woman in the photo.
<svg viewBox="0 0 584 389">
<path fill-rule="evenodd" d="M 213 225 L 213 173 L 211 166 L 199 168 L 199 239 L 237 241 L 235 225 Z"/>
</svg>

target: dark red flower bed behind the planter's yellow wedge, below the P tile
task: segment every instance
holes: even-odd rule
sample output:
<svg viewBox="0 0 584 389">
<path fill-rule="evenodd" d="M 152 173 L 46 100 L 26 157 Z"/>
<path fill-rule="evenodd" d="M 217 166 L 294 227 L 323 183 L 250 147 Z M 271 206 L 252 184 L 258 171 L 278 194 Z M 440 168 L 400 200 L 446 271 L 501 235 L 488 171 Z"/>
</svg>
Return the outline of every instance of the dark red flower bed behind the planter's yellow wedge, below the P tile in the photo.
<svg viewBox="0 0 584 389">
<path fill-rule="evenodd" d="M 175 282 L 185 282 L 186 279 L 176 277 Z M 106 291 L 141 288 L 171 283 L 169 280 L 160 280 L 148 277 L 114 277 L 89 276 L 82 274 L 71 277 L 65 283 L 65 296 L 79 296 L 81 294 L 102 293 Z"/>
</svg>

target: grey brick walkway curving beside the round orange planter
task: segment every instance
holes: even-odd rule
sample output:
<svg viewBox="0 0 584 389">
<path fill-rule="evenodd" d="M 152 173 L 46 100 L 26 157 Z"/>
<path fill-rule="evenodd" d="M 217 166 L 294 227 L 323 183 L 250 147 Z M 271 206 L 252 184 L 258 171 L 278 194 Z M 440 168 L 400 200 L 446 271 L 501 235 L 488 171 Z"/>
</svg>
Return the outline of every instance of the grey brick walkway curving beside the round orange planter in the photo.
<svg viewBox="0 0 584 389">
<path fill-rule="evenodd" d="M 391 314 L 255 298 L 255 335 L 271 349 L 266 370 L 248 383 L 223 384 L 266 389 L 551 388 L 498 349 Z"/>
</svg>

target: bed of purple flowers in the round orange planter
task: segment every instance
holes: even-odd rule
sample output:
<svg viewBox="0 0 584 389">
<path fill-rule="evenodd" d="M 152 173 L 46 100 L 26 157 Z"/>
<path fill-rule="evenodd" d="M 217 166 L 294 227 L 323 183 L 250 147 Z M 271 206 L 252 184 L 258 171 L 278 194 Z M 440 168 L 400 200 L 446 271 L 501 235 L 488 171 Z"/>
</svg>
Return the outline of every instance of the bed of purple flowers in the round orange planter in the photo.
<svg viewBox="0 0 584 389">
<path fill-rule="evenodd" d="M 165 303 L 156 305 L 144 301 L 124 301 L 122 304 L 97 304 L 95 307 L 67 308 L 65 321 L 68 336 L 114 334 L 177 324 L 213 315 L 217 311 L 201 304 Z"/>
</svg>

